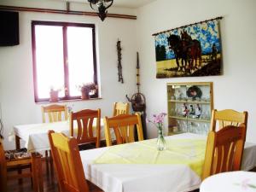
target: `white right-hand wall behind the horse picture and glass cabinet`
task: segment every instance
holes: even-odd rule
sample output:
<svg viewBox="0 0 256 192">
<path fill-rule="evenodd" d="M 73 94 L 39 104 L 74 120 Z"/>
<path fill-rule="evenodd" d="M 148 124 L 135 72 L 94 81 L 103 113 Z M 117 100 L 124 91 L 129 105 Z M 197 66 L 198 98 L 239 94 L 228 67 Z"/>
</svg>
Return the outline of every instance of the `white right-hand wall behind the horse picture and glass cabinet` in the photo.
<svg viewBox="0 0 256 192">
<path fill-rule="evenodd" d="M 167 82 L 213 82 L 214 108 L 248 111 L 247 141 L 256 138 L 256 1 L 254 0 L 157 0 L 137 13 L 137 39 L 142 65 L 142 92 L 147 113 L 166 112 Z M 155 79 L 155 32 L 201 20 L 221 20 L 224 74 L 215 77 Z M 166 121 L 167 124 L 167 121 Z M 156 130 L 148 125 L 150 137 Z"/>
</svg>

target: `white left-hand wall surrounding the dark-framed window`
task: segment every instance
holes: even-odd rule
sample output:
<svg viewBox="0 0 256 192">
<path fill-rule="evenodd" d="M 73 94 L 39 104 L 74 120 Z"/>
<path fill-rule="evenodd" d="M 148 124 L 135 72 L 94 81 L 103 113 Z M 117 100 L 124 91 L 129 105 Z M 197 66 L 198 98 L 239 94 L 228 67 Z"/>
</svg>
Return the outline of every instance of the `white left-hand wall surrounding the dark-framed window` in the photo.
<svg viewBox="0 0 256 192">
<path fill-rule="evenodd" d="M 65 8 L 65 3 L 48 1 L 1 1 L 1 5 Z M 50 6 L 50 7 L 49 7 Z M 71 8 L 82 9 L 84 4 L 71 4 Z M 87 9 L 86 6 L 84 9 Z M 83 10 L 84 10 L 83 9 Z M 134 15 L 132 9 L 119 9 L 124 14 Z M 118 13 L 113 11 L 111 13 Z M 0 107 L 4 125 L 5 148 L 14 148 L 15 142 L 8 141 L 13 125 L 42 122 L 41 105 L 34 102 L 32 81 L 32 35 L 31 20 L 56 20 L 79 23 L 95 23 L 97 38 L 98 77 L 102 87 L 102 99 L 95 101 L 67 102 L 74 110 L 102 108 L 102 117 L 112 115 L 113 102 L 126 102 L 136 89 L 136 20 L 106 18 L 102 22 L 95 16 L 56 15 L 20 12 L 20 44 L 0 47 Z M 124 84 L 118 82 L 116 42 L 121 40 Z M 45 103 L 44 103 L 45 104 Z"/>
</svg>

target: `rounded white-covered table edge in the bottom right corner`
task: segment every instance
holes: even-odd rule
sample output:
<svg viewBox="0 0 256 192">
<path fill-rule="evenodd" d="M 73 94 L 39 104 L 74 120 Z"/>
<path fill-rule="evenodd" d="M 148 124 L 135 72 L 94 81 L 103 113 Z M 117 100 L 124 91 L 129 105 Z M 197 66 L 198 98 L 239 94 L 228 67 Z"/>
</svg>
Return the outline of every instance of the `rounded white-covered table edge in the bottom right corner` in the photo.
<svg viewBox="0 0 256 192">
<path fill-rule="evenodd" d="M 207 177 L 200 192 L 256 192 L 256 172 L 223 172 Z"/>
</svg>

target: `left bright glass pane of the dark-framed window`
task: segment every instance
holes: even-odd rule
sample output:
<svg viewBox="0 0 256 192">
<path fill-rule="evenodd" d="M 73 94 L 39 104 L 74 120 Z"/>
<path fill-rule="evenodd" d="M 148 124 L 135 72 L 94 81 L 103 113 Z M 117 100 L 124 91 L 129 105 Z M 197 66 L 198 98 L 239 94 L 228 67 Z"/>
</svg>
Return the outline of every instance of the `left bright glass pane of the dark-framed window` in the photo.
<svg viewBox="0 0 256 192">
<path fill-rule="evenodd" d="M 38 98 L 49 98 L 50 88 L 64 87 L 61 26 L 36 26 Z M 62 89 L 59 96 L 64 96 Z"/>
</svg>

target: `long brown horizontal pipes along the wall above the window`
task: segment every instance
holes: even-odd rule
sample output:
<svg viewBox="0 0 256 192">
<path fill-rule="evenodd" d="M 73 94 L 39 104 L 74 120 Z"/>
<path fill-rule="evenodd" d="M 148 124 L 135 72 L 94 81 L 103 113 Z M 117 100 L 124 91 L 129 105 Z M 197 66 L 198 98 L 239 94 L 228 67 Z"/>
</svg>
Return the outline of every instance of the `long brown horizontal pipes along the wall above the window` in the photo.
<svg viewBox="0 0 256 192">
<path fill-rule="evenodd" d="M 3 6 L 0 5 L 2 10 L 11 11 L 29 11 L 29 12 L 39 12 L 39 13 L 49 13 L 49 14 L 69 14 L 69 15 L 88 15 L 88 16 L 98 16 L 96 12 L 87 11 L 72 11 L 72 10 L 61 10 L 61 9 L 42 9 L 42 8 L 27 8 L 27 7 L 15 7 L 15 6 Z M 127 19 L 127 20 L 137 20 L 135 15 L 119 15 L 119 14 L 107 14 L 107 17 Z"/>
</svg>

